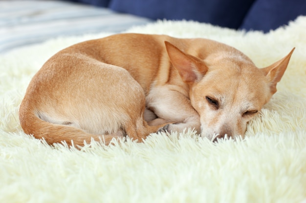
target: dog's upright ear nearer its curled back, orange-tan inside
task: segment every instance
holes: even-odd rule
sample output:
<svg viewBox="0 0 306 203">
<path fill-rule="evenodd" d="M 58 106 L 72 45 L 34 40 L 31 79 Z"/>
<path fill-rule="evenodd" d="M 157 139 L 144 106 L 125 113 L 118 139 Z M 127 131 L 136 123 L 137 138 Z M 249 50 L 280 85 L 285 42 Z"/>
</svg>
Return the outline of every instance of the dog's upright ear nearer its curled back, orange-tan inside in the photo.
<svg viewBox="0 0 306 203">
<path fill-rule="evenodd" d="M 202 79 L 208 68 L 199 58 L 185 54 L 173 44 L 165 41 L 172 65 L 177 69 L 184 82 L 194 83 Z"/>
</svg>

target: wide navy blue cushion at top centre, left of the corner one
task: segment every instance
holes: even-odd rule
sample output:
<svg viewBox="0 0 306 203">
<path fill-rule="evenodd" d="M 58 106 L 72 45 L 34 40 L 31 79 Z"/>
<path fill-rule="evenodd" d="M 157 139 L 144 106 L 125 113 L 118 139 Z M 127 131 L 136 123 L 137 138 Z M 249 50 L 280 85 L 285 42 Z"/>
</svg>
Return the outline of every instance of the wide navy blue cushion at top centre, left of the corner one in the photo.
<svg viewBox="0 0 306 203">
<path fill-rule="evenodd" d="M 254 0 L 110 0 L 118 12 L 153 19 L 186 19 L 239 28 Z"/>
</svg>

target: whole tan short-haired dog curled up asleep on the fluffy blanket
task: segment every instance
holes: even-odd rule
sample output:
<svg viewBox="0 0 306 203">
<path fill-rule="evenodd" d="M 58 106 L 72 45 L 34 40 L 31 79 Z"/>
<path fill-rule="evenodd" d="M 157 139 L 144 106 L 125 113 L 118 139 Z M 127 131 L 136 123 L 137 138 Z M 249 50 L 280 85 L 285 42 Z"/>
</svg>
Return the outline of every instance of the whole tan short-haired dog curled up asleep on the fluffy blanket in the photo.
<svg viewBox="0 0 306 203">
<path fill-rule="evenodd" d="M 50 145 L 84 145 L 102 135 L 106 144 L 124 136 L 142 141 L 186 128 L 209 139 L 243 136 L 276 92 L 293 50 L 258 69 L 240 51 L 209 39 L 119 34 L 85 41 L 34 75 L 20 106 L 21 126 Z"/>
</svg>

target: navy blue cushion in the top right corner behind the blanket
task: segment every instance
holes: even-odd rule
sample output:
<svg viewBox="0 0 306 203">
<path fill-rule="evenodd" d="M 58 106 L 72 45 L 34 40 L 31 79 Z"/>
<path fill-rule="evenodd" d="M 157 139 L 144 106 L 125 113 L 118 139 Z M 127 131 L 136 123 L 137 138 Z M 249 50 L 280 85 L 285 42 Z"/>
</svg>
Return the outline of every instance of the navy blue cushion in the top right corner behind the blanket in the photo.
<svg viewBox="0 0 306 203">
<path fill-rule="evenodd" d="M 268 32 L 306 15 L 306 0 L 256 0 L 240 29 Z"/>
</svg>

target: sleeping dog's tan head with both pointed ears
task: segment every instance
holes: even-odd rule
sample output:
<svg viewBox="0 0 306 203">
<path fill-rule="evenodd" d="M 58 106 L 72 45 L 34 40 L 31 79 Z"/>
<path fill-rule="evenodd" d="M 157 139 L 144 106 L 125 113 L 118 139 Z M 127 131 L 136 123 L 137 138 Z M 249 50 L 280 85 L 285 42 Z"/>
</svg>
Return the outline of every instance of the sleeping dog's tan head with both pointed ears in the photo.
<svg viewBox="0 0 306 203">
<path fill-rule="evenodd" d="M 190 86 L 190 100 L 200 115 L 201 136 L 244 136 L 247 123 L 276 92 L 293 50 L 278 62 L 257 68 L 245 55 L 226 45 L 224 51 L 201 59 L 165 42 L 182 80 Z M 230 51 L 229 51 L 230 50 Z"/>
</svg>

